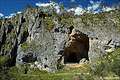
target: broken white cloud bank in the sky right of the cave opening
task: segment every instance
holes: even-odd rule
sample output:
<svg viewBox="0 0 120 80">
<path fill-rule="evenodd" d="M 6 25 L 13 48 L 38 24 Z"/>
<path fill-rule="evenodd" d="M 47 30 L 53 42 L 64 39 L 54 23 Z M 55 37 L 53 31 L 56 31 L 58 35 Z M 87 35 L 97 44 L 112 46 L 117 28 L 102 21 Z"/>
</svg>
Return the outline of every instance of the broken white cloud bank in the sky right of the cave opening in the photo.
<svg viewBox="0 0 120 80">
<path fill-rule="evenodd" d="M 67 11 L 74 11 L 75 15 L 82 15 L 84 12 L 87 11 L 87 13 L 100 13 L 100 12 L 105 12 L 105 11 L 111 11 L 115 10 L 113 7 L 101 7 L 101 1 L 93 1 L 90 0 L 90 5 L 86 8 L 86 10 L 82 7 L 76 7 L 76 8 L 71 8 L 68 9 Z"/>
</svg>

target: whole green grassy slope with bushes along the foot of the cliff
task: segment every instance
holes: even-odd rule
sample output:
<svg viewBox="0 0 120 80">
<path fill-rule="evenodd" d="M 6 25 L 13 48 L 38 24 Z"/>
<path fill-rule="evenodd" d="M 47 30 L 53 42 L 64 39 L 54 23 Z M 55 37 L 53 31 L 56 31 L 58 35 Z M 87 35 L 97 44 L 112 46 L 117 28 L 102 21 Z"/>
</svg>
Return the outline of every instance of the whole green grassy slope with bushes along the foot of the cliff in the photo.
<svg viewBox="0 0 120 80">
<path fill-rule="evenodd" d="M 12 67 L 9 77 L 15 80 L 108 80 L 120 79 L 120 48 L 115 52 L 105 55 L 103 58 L 90 64 L 81 64 L 79 68 L 64 68 L 55 73 L 48 73 L 38 69 L 28 70 L 24 74 L 24 68 Z M 2 80 L 2 79 L 1 79 Z M 4 79 L 3 79 L 4 80 Z"/>
</svg>

